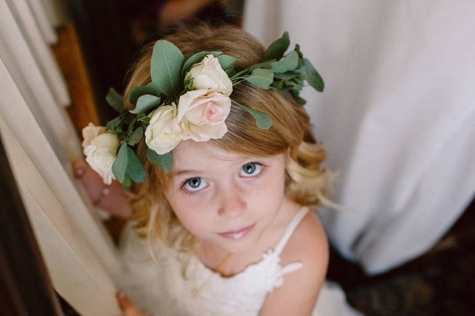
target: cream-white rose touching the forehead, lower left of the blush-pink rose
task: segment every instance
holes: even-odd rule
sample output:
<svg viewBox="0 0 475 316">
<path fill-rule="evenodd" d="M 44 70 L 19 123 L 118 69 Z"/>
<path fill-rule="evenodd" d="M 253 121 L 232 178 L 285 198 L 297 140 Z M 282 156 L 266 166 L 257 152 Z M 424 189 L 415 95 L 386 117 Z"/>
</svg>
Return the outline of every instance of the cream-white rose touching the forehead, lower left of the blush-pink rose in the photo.
<svg viewBox="0 0 475 316">
<path fill-rule="evenodd" d="M 181 138 L 181 128 L 177 120 L 177 106 L 165 105 L 153 112 L 145 130 L 145 142 L 148 148 L 163 155 L 174 149 Z"/>
</svg>

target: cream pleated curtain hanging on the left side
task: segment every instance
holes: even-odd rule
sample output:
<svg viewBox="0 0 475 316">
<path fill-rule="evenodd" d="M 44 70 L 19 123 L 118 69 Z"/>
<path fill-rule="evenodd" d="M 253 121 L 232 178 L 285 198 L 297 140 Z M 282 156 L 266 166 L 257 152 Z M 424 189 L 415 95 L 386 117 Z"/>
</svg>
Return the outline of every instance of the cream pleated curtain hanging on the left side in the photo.
<svg viewBox="0 0 475 316">
<path fill-rule="evenodd" d="M 119 315 L 115 248 L 72 176 L 81 146 L 42 8 L 38 0 L 0 0 L 1 141 L 54 288 L 81 315 Z"/>
</svg>

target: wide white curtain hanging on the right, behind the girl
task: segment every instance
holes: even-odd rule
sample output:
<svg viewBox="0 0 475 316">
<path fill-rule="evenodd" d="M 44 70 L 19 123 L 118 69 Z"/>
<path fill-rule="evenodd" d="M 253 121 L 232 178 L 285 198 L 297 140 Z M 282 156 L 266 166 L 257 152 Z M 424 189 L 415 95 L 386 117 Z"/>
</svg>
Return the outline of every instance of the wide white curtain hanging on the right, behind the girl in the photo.
<svg viewBox="0 0 475 316">
<path fill-rule="evenodd" d="M 369 274 L 427 251 L 475 192 L 475 2 L 252 0 L 244 11 L 265 44 L 289 31 L 325 80 L 303 96 L 349 208 L 320 213 L 332 243 Z"/>
</svg>

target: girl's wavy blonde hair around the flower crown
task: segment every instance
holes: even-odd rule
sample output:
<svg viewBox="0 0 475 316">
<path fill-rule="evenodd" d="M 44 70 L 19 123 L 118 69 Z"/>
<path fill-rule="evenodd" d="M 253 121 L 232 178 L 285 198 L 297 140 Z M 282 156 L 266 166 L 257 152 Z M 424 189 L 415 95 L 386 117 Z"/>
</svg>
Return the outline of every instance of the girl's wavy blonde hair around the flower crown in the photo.
<svg viewBox="0 0 475 316">
<path fill-rule="evenodd" d="M 164 40 L 174 43 L 185 56 L 199 51 L 222 51 L 239 57 L 236 71 L 260 62 L 264 46 L 254 37 L 234 26 L 210 27 L 194 25 L 192 29 L 181 28 Z M 133 86 L 143 86 L 151 81 L 150 58 L 153 43 L 146 46 L 135 65 L 125 90 L 126 107 Z M 221 139 L 210 142 L 227 151 L 252 156 L 286 154 L 286 194 L 302 205 L 317 205 L 325 202 L 332 194 L 332 174 L 321 167 L 325 160 L 325 149 L 316 142 L 309 117 L 302 106 L 287 100 L 279 91 L 263 90 L 247 83 L 233 87 L 231 98 L 238 103 L 265 112 L 272 118 L 268 130 L 256 126 L 254 118 L 239 107 L 233 106 L 226 119 L 228 132 Z M 195 245 L 194 237 L 180 224 L 164 196 L 173 177 L 165 173 L 146 158 L 144 140 L 138 145 L 138 157 L 147 174 L 143 183 L 131 188 L 131 204 L 136 222 L 135 232 L 149 240 L 158 237 L 168 246 L 189 251 Z M 172 152 L 173 154 L 173 152 Z M 180 238 L 179 238 L 180 237 Z"/>
</svg>

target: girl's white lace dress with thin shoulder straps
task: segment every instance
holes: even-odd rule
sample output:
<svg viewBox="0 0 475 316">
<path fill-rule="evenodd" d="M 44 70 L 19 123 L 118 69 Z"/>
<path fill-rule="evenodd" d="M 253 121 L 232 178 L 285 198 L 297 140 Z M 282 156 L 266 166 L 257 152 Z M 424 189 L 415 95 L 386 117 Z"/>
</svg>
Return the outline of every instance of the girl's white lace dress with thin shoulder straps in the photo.
<svg viewBox="0 0 475 316">
<path fill-rule="evenodd" d="M 267 293 L 283 285 L 285 274 L 303 265 L 293 262 L 282 267 L 280 254 L 308 210 L 303 207 L 295 214 L 277 246 L 263 253 L 261 261 L 231 277 L 213 272 L 194 255 L 183 269 L 184 258 L 164 246 L 154 250 L 155 261 L 146 241 L 128 230 L 121 242 L 124 271 L 116 282 L 146 315 L 257 316 Z M 317 315 L 361 314 L 346 304 L 338 286 L 326 282 L 312 314 Z"/>
</svg>

